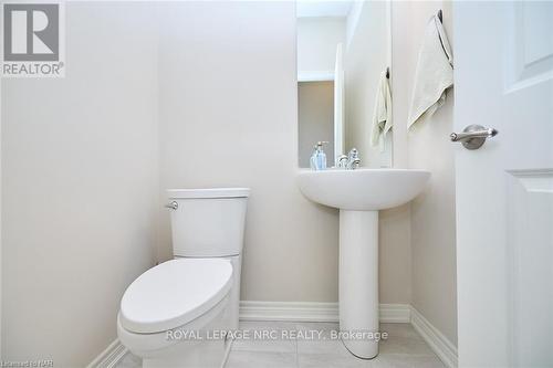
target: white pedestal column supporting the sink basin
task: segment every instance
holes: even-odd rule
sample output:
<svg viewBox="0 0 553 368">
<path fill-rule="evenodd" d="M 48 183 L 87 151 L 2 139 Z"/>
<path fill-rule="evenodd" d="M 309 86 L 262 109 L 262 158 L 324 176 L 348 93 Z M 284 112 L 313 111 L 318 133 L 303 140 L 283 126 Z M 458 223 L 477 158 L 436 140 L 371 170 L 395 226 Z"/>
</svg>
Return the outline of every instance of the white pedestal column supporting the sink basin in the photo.
<svg viewBox="0 0 553 368">
<path fill-rule="evenodd" d="M 353 355 L 378 354 L 378 211 L 340 210 L 340 330 Z"/>
</svg>

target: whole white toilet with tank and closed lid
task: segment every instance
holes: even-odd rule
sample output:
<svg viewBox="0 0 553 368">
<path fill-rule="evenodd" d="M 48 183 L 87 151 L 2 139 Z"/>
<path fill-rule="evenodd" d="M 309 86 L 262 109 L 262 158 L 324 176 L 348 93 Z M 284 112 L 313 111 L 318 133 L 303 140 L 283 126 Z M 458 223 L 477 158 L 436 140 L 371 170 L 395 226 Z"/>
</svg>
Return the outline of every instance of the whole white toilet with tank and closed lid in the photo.
<svg viewBox="0 0 553 368">
<path fill-rule="evenodd" d="M 247 188 L 170 189 L 174 259 L 136 278 L 117 316 L 143 367 L 221 367 L 238 329 Z"/>
</svg>

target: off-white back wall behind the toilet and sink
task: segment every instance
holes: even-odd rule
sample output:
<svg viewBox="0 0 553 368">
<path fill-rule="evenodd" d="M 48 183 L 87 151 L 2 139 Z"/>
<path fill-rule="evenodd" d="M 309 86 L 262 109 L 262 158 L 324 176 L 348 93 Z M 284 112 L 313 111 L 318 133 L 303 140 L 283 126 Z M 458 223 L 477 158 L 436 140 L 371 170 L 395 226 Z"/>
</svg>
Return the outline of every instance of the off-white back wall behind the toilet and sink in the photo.
<svg viewBox="0 0 553 368">
<path fill-rule="evenodd" d="M 337 212 L 309 202 L 295 183 L 294 7 L 164 7 L 160 188 L 252 189 L 242 299 L 337 299 Z M 171 253 L 168 214 L 161 219 L 164 260 Z"/>
</svg>

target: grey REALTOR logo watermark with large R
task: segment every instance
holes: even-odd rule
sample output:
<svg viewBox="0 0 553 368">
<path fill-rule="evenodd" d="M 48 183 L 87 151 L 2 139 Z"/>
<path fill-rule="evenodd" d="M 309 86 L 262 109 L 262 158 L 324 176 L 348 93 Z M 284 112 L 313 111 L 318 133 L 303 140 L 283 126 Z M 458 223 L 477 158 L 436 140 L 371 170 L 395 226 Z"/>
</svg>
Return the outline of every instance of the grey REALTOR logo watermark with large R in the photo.
<svg viewBox="0 0 553 368">
<path fill-rule="evenodd" d="M 2 76 L 63 77 L 64 15 L 63 2 L 3 2 Z"/>
</svg>

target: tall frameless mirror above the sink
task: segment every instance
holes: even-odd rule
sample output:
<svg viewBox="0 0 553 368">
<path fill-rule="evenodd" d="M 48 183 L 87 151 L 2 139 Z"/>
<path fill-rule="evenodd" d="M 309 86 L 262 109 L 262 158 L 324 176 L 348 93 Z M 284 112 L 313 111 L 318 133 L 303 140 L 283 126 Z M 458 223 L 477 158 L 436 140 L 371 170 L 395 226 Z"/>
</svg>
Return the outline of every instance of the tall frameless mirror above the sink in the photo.
<svg viewBox="0 0 553 368">
<path fill-rule="evenodd" d="M 327 141 L 328 168 L 352 148 L 362 167 L 392 167 L 392 106 L 382 93 L 390 85 L 390 2 L 299 0 L 296 17 L 299 166 L 309 168 L 316 143 Z"/>
</svg>

